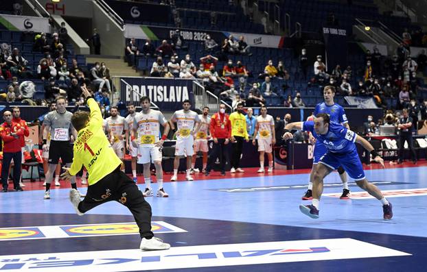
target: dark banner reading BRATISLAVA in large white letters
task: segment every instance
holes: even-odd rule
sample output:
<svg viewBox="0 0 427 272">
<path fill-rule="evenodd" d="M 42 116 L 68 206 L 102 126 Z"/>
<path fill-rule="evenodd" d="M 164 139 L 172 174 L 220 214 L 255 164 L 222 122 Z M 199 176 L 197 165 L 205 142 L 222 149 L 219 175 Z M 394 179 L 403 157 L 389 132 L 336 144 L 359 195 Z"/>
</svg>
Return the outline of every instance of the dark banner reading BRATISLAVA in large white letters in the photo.
<svg viewBox="0 0 427 272">
<path fill-rule="evenodd" d="M 181 110 L 183 101 L 189 99 L 194 105 L 193 80 L 164 77 L 120 77 L 120 99 L 135 102 L 141 97 L 150 97 L 159 109 Z"/>
</svg>

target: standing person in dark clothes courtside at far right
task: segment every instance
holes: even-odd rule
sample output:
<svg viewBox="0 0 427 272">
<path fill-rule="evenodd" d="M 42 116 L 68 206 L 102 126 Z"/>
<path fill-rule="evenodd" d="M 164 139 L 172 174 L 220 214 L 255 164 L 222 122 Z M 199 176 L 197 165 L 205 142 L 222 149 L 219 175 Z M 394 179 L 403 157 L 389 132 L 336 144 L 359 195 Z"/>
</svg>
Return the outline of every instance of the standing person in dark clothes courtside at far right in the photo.
<svg viewBox="0 0 427 272">
<path fill-rule="evenodd" d="M 404 145 L 405 141 L 408 142 L 408 148 L 411 151 L 411 158 L 414 164 L 417 164 L 417 153 L 415 153 L 415 149 L 413 147 L 412 140 L 412 124 L 413 119 L 408 115 L 408 109 L 403 109 L 403 117 L 399 120 L 399 125 L 397 129 L 399 129 L 399 163 L 401 164 L 404 156 Z"/>
</svg>

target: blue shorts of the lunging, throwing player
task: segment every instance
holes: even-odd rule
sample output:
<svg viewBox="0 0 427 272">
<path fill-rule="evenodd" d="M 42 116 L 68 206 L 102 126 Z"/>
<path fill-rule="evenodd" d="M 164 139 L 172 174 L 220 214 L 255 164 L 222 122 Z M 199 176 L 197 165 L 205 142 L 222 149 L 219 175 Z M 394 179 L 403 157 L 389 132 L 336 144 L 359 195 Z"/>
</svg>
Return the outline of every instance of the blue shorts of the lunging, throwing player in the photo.
<svg viewBox="0 0 427 272">
<path fill-rule="evenodd" d="M 338 169 L 339 166 L 343 166 L 343 169 L 349 174 L 353 180 L 364 180 L 365 171 L 363 171 L 362 162 L 360 162 L 359 154 L 357 150 L 346 153 L 332 153 L 327 151 L 319 163 L 328 166 L 330 169 Z"/>
</svg>

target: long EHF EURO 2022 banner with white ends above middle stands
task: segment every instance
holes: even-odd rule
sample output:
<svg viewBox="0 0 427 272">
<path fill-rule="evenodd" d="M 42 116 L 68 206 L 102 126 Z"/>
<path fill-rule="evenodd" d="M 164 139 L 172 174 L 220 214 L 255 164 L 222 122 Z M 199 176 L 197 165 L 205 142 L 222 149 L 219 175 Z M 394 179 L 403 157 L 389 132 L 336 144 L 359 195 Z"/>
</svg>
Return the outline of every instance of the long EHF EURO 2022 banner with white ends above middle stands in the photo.
<svg viewBox="0 0 427 272">
<path fill-rule="evenodd" d="M 132 25 L 126 24 L 124 30 L 125 38 L 147 39 L 150 40 L 168 40 L 175 33 L 174 27 L 153 27 L 148 25 Z M 233 35 L 235 38 L 244 36 L 246 43 L 251 47 L 269 47 L 269 48 L 282 48 L 284 46 L 284 37 L 273 35 L 261 34 L 248 34 L 237 32 L 219 32 L 219 31 L 206 31 L 200 29 L 179 29 L 181 36 L 184 40 L 200 41 L 206 40 L 206 36 L 211 36 L 218 44 Z"/>
</svg>

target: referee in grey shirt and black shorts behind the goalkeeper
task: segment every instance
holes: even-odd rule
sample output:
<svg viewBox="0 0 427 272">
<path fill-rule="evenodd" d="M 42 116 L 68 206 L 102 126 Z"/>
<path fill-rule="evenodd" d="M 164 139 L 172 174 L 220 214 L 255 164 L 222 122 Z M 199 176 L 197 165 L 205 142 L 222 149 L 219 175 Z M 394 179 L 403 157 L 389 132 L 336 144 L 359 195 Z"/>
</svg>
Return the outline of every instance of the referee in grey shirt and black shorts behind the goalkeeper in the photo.
<svg viewBox="0 0 427 272">
<path fill-rule="evenodd" d="M 70 141 L 70 134 L 73 138 L 77 138 L 76 129 L 71 124 L 71 116 L 73 114 L 65 108 L 65 98 L 56 97 L 56 110 L 49 112 L 43 125 L 43 145 L 47 143 L 47 136 L 50 131 L 51 140 L 49 145 L 49 169 L 45 173 L 46 191 L 44 199 L 50 199 L 50 184 L 54 178 L 54 171 L 59 159 L 65 163 L 67 167 L 73 162 L 73 147 Z M 76 177 L 71 179 L 71 187 L 77 190 Z"/>
</svg>

